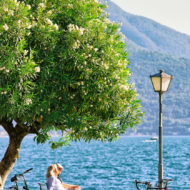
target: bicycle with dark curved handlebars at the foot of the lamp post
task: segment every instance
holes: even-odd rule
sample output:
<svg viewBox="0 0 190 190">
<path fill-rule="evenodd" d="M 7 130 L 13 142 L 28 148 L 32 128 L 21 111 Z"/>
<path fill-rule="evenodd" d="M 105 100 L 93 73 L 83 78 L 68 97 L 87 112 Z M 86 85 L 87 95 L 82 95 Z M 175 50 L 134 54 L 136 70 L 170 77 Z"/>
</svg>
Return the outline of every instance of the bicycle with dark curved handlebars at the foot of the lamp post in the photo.
<svg viewBox="0 0 190 190">
<path fill-rule="evenodd" d="M 138 186 L 138 184 L 142 184 L 142 185 L 144 185 L 145 187 L 146 187 L 146 190 L 161 190 L 161 189 L 163 189 L 163 190 L 169 190 L 169 188 L 168 188 L 168 182 L 169 181 L 172 181 L 172 179 L 163 179 L 163 185 L 164 185 L 164 187 L 163 188 L 159 188 L 159 187 L 152 187 L 152 184 L 150 183 L 150 182 L 148 182 L 148 181 L 145 181 L 145 182 L 141 182 L 141 181 L 138 181 L 138 180 L 135 180 L 135 185 L 136 185 L 136 188 L 138 189 L 138 190 L 140 190 L 140 188 L 139 188 L 139 186 Z"/>
</svg>

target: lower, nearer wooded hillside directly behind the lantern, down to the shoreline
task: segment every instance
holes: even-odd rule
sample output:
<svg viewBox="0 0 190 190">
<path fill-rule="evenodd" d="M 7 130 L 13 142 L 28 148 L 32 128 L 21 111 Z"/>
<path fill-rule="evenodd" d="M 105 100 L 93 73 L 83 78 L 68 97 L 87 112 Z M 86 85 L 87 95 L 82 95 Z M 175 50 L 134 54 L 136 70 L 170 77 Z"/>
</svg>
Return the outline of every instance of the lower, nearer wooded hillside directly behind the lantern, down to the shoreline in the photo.
<svg viewBox="0 0 190 190">
<path fill-rule="evenodd" d="M 130 53 L 131 71 L 145 118 L 138 131 L 156 131 L 158 126 L 158 94 L 153 91 L 150 74 L 164 69 L 174 76 L 169 91 L 163 95 L 163 125 L 165 135 L 190 134 L 190 60 L 139 50 Z M 180 65 L 179 65 L 180 64 Z"/>
</svg>

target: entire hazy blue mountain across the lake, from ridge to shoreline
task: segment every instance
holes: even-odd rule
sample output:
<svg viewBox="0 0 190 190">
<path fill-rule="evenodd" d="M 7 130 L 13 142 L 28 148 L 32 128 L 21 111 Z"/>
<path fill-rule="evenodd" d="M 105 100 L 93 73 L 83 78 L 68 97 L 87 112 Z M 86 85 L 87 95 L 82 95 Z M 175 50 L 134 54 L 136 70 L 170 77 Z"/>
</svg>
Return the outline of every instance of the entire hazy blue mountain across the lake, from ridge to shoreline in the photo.
<svg viewBox="0 0 190 190">
<path fill-rule="evenodd" d="M 163 95 L 164 135 L 190 135 L 190 36 L 151 19 L 129 14 L 111 1 L 107 11 L 112 21 L 122 23 L 126 36 L 131 80 L 142 101 L 145 117 L 136 134 L 158 134 L 159 96 L 150 75 L 159 70 L 173 75 L 170 88 Z"/>
</svg>

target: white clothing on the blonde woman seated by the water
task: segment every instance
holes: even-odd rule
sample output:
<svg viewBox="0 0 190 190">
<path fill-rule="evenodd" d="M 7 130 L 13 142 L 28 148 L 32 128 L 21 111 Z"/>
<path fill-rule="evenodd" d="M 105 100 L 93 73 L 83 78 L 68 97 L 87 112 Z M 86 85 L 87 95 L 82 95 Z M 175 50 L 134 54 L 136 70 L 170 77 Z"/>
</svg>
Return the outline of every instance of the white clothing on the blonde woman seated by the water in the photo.
<svg viewBox="0 0 190 190">
<path fill-rule="evenodd" d="M 47 180 L 48 190 L 66 190 L 57 177 L 49 177 Z"/>
</svg>

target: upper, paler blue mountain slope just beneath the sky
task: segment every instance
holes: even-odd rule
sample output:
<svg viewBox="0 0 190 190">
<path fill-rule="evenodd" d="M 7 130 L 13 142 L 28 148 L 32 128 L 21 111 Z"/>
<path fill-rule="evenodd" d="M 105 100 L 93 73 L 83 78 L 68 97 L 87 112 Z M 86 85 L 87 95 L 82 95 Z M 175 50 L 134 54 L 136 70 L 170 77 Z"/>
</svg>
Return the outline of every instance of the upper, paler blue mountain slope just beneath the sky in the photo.
<svg viewBox="0 0 190 190">
<path fill-rule="evenodd" d="M 139 47 L 177 57 L 190 58 L 190 36 L 151 19 L 129 14 L 107 1 L 109 18 L 122 23 L 122 33 Z"/>
</svg>

